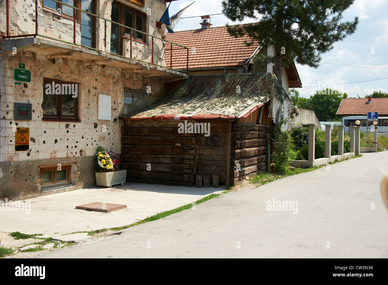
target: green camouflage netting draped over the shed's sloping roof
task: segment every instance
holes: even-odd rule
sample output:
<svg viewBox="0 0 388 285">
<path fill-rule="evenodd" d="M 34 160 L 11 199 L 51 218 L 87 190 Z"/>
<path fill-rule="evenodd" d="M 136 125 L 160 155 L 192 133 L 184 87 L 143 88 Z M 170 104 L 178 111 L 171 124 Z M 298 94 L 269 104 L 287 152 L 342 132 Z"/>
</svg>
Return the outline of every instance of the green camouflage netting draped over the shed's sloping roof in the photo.
<svg viewBox="0 0 388 285">
<path fill-rule="evenodd" d="M 189 75 L 165 97 L 127 117 L 239 117 L 272 97 L 277 97 L 281 103 L 288 97 L 272 73 Z"/>
</svg>

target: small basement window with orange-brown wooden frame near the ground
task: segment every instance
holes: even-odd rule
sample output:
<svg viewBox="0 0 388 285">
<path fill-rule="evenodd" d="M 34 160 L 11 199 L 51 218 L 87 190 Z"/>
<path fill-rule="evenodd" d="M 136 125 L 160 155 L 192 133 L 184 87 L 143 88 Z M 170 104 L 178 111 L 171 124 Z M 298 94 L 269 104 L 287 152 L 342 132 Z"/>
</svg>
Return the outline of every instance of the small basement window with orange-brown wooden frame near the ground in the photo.
<svg viewBox="0 0 388 285">
<path fill-rule="evenodd" d="M 40 186 L 41 188 L 51 188 L 56 186 L 68 185 L 70 179 L 71 164 L 53 166 L 41 166 L 39 168 Z"/>
</svg>

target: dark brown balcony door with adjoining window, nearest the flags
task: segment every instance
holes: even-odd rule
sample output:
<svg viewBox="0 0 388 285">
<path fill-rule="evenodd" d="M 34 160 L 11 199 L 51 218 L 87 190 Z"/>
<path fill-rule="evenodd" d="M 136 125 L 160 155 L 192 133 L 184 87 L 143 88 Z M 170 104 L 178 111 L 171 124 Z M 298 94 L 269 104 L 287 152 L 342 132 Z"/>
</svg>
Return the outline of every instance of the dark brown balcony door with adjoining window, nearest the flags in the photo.
<svg viewBox="0 0 388 285">
<path fill-rule="evenodd" d="M 113 1 L 112 3 L 111 20 L 135 30 L 142 31 L 144 33 L 147 32 L 145 26 L 147 20 L 146 14 L 116 1 Z M 123 37 L 130 38 L 131 31 L 131 29 L 118 24 L 111 24 L 111 53 L 123 53 Z M 146 37 L 143 33 L 133 32 L 132 40 L 145 43 Z"/>
</svg>

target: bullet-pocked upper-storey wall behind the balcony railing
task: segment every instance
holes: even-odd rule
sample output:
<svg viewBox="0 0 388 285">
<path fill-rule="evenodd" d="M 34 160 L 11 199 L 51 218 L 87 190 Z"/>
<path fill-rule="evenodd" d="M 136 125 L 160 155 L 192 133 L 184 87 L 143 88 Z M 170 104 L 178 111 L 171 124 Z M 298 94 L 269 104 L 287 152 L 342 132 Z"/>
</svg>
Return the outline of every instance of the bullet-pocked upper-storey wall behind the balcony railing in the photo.
<svg viewBox="0 0 388 285">
<path fill-rule="evenodd" d="M 9 36 L 35 34 L 35 0 L 13 0 L 9 1 Z M 146 16 L 145 33 L 152 36 L 163 37 L 164 31 L 156 28 L 156 22 L 159 21 L 166 9 L 166 3 L 163 0 L 145 1 L 144 7 L 128 0 L 95 0 L 95 14 L 99 17 L 111 20 L 112 3 L 123 4 L 129 9 L 139 11 Z M 63 6 L 65 7 L 65 6 Z M 85 14 L 85 13 L 83 13 Z M 38 34 L 48 36 L 57 40 L 73 43 L 74 42 L 74 22 L 71 17 L 62 13 L 58 16 L 54 10 L 43 7 L 43 0 L 38 0 Z M 7 9 L 5 1 L 0 6 L 0 31 L 7 31 Z M 95 20 L 95 49 L 111 52 L 111 22 L 101 18 Z M 145 43 L 132 41 L 132 58 L 152 62 L 152 36 L 145 36 Z M 75 43 L 81 44 L 81 22 L 75 24 Z M 121 56 L 131 56 L 131 45 L 129 36 L 122 38 Z M 154 38 L 153 45 L 154 64 L 165 66 L 164 46 L 160 39 Z"/>
</svg>

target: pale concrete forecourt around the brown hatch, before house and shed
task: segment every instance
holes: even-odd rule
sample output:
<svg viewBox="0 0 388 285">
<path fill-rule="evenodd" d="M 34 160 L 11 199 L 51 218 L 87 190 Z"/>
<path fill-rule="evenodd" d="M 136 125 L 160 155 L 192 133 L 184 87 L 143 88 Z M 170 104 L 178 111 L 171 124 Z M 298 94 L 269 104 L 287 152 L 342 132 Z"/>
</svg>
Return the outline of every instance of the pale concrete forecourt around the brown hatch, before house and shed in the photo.
<svg viewBox="0 0 388 285">
<path fill-rule="evenodd" d="M 23 203 L 27 208 L 30 205 L 30 209 L 1 211 L 0 231 L 19 231 L 53 237 L 75 231 L 124 226 L 222 190 L 221 187 L 195 188 L 125 183 L 123 186 L 113 188 L 79 189 L 39 196 Z M 109 213 L 75 209 L 78 205 L 92 202 L 124 204 L 127 207 Z"/>
</svg>

